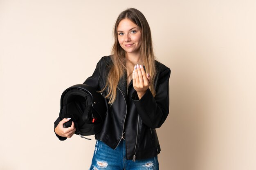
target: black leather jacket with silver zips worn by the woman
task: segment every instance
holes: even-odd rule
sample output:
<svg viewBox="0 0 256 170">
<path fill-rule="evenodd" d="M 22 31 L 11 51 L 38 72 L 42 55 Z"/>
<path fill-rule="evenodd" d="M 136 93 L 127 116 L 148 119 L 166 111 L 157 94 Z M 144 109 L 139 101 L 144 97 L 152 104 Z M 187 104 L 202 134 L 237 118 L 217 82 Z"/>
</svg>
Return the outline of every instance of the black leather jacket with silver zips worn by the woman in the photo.
<svg viewBox="0 0 256 170">
<path fill-rule="evenodd" d="M 160 145 L 155 128 L 159 128 L 169 113 L 169 77 L 171 70 L 159 62 L 156 63 L 155 78 L 156 95 L 153 97 L 148 89 L 146 94 L 138 99 L 132 86 L 127 86 L 126 75 L 121 77 L 117 86 L 117 98 L 108 107 L 108 114 L 101 132 L 95 139 L 101 140 L 115 149 L 122 139 L 126 140 L 127 159 L 146 159 L 160 153 Z M 97 90 L 106 85 L 106 78 L 112 61 L 110 56 L 102 57 L 91 77 L 83 84 L 88 84 Z M 106 95 L 105 92 L 102 93 Z M 54 122 L 58 125 L 59 118 Z M 60 140 L 66 138 L 57 135 Z"/>
</svg>

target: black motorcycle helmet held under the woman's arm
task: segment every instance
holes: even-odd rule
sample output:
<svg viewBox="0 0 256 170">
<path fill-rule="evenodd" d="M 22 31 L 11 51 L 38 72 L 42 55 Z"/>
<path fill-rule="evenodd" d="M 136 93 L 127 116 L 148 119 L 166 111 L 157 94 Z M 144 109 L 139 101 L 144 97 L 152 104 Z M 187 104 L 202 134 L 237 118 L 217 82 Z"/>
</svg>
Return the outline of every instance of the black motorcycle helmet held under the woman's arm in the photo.
<svg viewBox="0 0 256 170">
<path fill-rule="evenodd" d="M 76 84 L 61 95 L 60 119 L 71 118 L 63 127 L 70 127 L 74 121 L 76 135 L 83 137 L 97 134 L 103 126 L 106 113 L 106 99 L 92 86 Z"/>
</svg>

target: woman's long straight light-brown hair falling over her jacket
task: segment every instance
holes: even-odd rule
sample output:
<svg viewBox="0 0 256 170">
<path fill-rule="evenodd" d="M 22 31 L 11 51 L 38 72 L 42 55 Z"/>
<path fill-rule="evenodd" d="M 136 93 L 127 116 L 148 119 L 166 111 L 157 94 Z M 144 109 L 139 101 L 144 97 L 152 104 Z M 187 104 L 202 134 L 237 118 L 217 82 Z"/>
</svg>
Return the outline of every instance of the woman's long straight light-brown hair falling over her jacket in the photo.
<svg viewBox="0 0 256 170">
<path fill-rule="evenodd" d="M 154 89 L 154 80 L 156 75 L 156 68 L 155 68 L 155 55 L 153 52 L 153 45 L 152 45 L 152 38 L 151 38 L 151 31 L 148 25 L 148 22 L 145 16 L 137 9 L 129 8 L 125 11 L 121 12 L 118 16 L 115 27 L 114 27 L 114 38 L 115 43 L 112 46 L 112 55 L 111 60 L 113 62 L 110 72 L 108 74 L 107 82 L 105 88 L 102 91 L 107 90 L 106 98 L 109 99 L 109 104 L 112 104 L 116 97 L 117 97 L 117 85 L 119 83 L 119 79 L 126 74 L 126 52 L 124 49 L 121 48 L 118 42 L 118 34 L 117 34 L 117 26 L 119 22 L 123 19 L 129 19 L 137 26 L 141 31 L 141 46 L 140 46 L 140 53 L 141 53 L 141 60 L 144 63 L 146 68 L 146 72 L 149 73 L 151 76 L 151 84 L 149 89 L 153 96 L 155 97 L 155 89 Z"/>
</svg>

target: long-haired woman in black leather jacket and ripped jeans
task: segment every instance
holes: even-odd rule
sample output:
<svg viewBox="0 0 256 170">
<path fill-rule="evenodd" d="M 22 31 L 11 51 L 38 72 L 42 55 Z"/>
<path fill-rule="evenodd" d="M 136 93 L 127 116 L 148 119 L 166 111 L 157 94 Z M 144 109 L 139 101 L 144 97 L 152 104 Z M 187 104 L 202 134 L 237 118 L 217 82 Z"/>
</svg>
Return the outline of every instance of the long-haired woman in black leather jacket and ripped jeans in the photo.
<svg viewBox="0 0 256 170">
<path fill-rule="evenodd" d="M 170 69 L 155 60 L 150 27 L 137 9 L 117 18 L 112 55 L 102 57 L 84 84 L 101 91 L 108 100 L 108 114 L 97 139 L 92 169 L 158 170 L 160 146 L 155 128 L 169 113 Z M 68 119 L 55 122 L 60 140 L 75 132 Z"/>
</svg>

